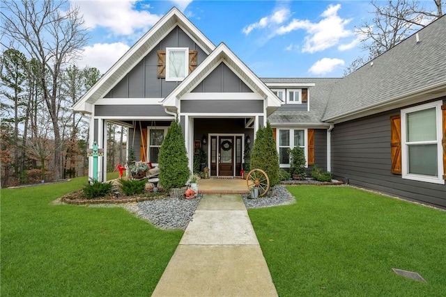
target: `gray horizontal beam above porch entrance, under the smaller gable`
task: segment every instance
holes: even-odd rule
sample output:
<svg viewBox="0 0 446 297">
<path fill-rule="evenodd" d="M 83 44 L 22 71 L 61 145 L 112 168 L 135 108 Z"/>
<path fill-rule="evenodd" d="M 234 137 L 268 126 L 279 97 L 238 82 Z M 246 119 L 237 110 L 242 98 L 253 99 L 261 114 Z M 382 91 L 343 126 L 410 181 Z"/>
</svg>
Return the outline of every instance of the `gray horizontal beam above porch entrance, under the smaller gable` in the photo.
<svg viewBox="0 0 446 297">
<path fill-rule="evenodd" d="M 182 100 L 182 113 L 263 113 L 263 100 Z"/>
</svg>

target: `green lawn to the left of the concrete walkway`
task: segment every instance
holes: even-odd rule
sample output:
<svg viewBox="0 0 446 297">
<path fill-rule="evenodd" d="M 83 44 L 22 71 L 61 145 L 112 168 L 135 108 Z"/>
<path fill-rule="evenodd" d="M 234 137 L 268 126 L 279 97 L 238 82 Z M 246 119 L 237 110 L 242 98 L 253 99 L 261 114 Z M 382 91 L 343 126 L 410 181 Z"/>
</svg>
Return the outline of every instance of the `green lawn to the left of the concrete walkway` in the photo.
<svg viewBox="0 0 446 297">
<path fill-rule="evenodd" d="M 151 295 L 183 231 L 51 203 L 86 182 L 1 189 L 1 296 Z"/>
</svg>

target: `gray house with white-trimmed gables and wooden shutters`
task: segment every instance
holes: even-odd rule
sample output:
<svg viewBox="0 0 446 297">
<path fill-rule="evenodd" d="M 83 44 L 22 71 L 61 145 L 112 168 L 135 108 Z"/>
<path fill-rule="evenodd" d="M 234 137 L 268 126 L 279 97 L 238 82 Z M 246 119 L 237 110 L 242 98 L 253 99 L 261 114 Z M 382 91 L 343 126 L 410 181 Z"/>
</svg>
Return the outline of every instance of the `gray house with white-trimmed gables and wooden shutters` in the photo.
<svg viewBox="0 0 446 297">
<path fill-rule="evenodd" d="M 240 175 L 269 120 L 281 168 L 300 146 L 308 170 L 446 207 L 445 31 L 443 16 L 344 78 L 260 79 L 172 8 L 73 109 L 91 114 L 91 143 L 107 152 L 106 123 L 116 122 L 137 159 L 153 163 L 178 117 L 190 168 L 203 150 L 211 176 Z M 105 180 L 102 158 L 98 167 Z"/>
</svg>

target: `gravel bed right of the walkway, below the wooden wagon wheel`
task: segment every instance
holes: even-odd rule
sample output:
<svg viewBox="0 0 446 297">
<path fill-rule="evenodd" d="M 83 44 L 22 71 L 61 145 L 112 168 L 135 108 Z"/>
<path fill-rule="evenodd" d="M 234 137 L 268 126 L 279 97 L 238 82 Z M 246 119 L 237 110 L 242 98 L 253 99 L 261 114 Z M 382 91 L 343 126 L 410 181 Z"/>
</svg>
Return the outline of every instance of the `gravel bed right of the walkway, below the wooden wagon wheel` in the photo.
<svg viewBox="0 0 446 297">
<path fill-rule="evenodd" d="M 277 205 L 293 204 L 295 202 L 293 195 L 281 184 L 272 187 L 264 197 L 252 199 L 250 194 L 243 194 L 242 198 L 247 209 L 274 207 Z"/>
</svg>

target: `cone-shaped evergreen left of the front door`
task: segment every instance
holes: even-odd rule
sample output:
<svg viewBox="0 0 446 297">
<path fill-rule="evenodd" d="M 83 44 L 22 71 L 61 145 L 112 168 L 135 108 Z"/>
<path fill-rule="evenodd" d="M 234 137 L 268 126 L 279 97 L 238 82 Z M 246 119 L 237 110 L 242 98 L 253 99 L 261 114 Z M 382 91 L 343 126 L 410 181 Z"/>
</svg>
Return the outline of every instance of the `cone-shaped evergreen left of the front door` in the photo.
<svg viewBox="0 0 446 297">
<path fill-rule="evenodd" d="M 180 188 L 186 184 L 190 176 L 188 164 L 183 130 L 177 119 L 167 130 L 158 154 L 160 184 L 164 189 Z"/>
</svg>

